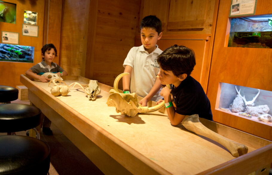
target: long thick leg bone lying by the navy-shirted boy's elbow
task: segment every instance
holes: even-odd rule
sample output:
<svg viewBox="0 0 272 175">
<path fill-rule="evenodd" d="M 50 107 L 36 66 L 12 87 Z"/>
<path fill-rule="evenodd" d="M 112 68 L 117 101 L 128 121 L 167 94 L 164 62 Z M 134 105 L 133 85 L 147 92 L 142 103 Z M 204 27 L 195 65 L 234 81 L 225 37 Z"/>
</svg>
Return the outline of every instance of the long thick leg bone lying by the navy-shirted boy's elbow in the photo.
<svg viewBox="0 0 272 175">
<path fill-rule="evenodd" d="M 214 141 L 217 141 L 221 145 L 227 148 L 230 151 L 231 155 L 234 157 L 239 157 L 247 153 L 248 148 L 244 144 L 240 144 L 236 141 L 230 140 L 224 136 L 219 135 L 218 133 L 213 132 L 212 130 L 205 127 L 200 121 L 197 114 L 187 115 L 183 121 L 182 125 L 189 131 L 192 131 L 198 135 L 207 137 Z"/>
</svg>

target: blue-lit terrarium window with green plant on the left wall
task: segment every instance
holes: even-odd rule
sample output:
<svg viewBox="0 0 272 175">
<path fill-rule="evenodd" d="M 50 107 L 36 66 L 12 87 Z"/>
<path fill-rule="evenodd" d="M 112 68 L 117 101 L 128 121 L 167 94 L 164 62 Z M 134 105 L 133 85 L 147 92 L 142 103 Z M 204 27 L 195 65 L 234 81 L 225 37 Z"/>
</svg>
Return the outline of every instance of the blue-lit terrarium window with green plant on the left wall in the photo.
<svg viewBox="0 0 272 175">
<path fill-rule="evenodd" d="M 33 63 L 34 47 L 0 43 L 0 61 Z"/>
</svg>

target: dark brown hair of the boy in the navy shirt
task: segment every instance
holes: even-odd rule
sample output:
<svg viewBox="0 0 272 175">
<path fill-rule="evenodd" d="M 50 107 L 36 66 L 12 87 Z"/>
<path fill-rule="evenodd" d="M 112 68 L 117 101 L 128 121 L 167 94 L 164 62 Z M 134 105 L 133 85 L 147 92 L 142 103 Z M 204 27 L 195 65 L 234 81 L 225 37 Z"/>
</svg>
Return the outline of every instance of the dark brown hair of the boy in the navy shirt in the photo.
<svg viewBox="0 0 272 175">
<path fill-rule="evenodd" d="M 189 76 L 195 67 L 195 53 L 183 45 L 173 45 L 165 49 L 157 59 L 160 67 L 172 71 L 178 77 L 181 74 Z"/>
</svg>

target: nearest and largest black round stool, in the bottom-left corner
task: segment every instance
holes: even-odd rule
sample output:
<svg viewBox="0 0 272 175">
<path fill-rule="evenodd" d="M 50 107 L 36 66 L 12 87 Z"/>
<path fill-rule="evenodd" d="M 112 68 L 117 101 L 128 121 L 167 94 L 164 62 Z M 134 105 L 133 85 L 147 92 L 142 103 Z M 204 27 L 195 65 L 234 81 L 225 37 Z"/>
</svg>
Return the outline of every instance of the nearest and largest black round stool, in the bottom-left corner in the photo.
<svg viewBox="0 0 272 175">
<path fill-rule="evenodd" d="M 0 136 L 0 175 L 46 175 L 50 148 L 28 136 Z"/>
</svg>

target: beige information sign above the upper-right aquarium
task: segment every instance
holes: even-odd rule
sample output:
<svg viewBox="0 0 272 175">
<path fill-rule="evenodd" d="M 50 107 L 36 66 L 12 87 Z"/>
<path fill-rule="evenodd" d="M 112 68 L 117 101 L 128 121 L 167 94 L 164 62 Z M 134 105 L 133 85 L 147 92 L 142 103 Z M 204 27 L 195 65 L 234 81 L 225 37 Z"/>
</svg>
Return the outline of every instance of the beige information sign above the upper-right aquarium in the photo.
<svg viewBox="0 0 272 175">
<path fill-rule="evenodd" d="M 230 17 L 254 15 L 257 0 L 232 0 Z"/>
</svg>

